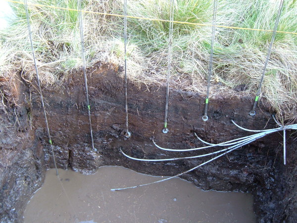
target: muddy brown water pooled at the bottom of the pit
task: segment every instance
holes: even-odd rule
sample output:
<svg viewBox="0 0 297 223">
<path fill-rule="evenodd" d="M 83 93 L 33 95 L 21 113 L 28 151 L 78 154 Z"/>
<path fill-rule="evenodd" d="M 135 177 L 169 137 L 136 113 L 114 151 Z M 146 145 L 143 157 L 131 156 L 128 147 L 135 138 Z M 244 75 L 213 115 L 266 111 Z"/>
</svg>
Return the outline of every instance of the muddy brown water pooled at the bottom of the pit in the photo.
<svg viewBox="0 0 297 223">
<path fill-rule="evenodd" d="M 123 167 L 100 167 L 85 175 L 59 169 L 64 193 L 54 169 L 31 198 L 24 213 L 25 223 L 130 223 L 130 222 L 256 222 L 250 194 L 202 191 L 180 178 L 128 189 L 160 179 Z"/>
</svg>

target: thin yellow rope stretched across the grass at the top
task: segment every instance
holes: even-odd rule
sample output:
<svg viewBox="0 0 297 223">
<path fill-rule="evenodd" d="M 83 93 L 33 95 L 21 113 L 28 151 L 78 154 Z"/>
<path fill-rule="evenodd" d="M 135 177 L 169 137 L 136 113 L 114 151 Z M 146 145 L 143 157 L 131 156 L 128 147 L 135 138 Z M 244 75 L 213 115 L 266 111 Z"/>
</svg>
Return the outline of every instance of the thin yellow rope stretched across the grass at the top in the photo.
<svg viewBox="0 0 297 223">
<path fill-rule="evenodd" d="M 5 0 L 5 1 L 12 2 L 12 3 L 18 3 L 18 4 L 24 4 L 24 2 L 21 2 L 21 1 L 14 1 L 14 0 Z M 38 7 L 55 8 L 55 9 L 62 9 L 62 10 L 68 10 L 68 11 L 79 11 L 78 9 L 73 9 L 73 8 L 63 8 L 63 7 L 53 6 L 53 5 L 45 5 L 45 4 L 37 4 L 37 3 L 28 3 L 28 5 L 33 5 L 33 6 L 38 6 Z M 81 10 L 81 11 L 85 12 L 85 13 L 93 13 L 93 14 L 99 14 L 99 15 L 110 15 L 110 16 L 124 17 L 124 15 L 111 14 L 111 13 L 105 13 L 105 12 L 95 12 L 95 11 L 87 11 L 87 10 Z M 131 16 L 131 15 L 127 15 L 127 18 L 135 18 L 135 19 L 143 19 L 143 20 L 159 21 L 159 22 L 170 22 L 170 20 L 166 20 L 166 19 L 146 18 L 146 17 L 140 17 L 140 16 Z M 202 24 L 202 23 L 193 23 L 193 22 L 181 22 L 181 21 L 173 21 L 173 23 L 196 25 L 196 26 L 212 26 L 211 24 Z M 252 28 L 243 28 L 243 27 L 236 27 L 236 26 L 216 25 L 216 27 L 228 28 L 228 29 L 241 29 L 241 30 L 273 32 L 273 30 L 269 30 L 269 29 L 252 29 Z M 276 31 L 276 32 L 277 33 L 286 33 L 286 34 L 297 35 L 297 33 L 295 33 L 295 32 L 286 32 L 286 31 Z"/>
</svg>

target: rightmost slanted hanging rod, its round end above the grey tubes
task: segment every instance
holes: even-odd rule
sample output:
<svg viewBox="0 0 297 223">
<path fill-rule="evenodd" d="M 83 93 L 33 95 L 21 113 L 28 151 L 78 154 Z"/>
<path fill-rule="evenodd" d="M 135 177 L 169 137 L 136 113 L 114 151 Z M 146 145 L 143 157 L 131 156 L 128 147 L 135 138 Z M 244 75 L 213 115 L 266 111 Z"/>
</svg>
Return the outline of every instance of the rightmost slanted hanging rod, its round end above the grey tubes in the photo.
<svg viewBox="0 0 297 223">
<path fill-rule="evenodd" d="M 280 7 L 279 7 L 279 10 L 278 10 L 278 14 L 277 14 L 277 17 L 276 17 L 276 20 L 275 20 L 275 25 L 274 25 L 274 29 L 273 29 L 273 33 L 272 33 L 272 37 L 271 37 L 271 42 L 270 42 L 270 45 L 269 45 L 269 48 L 268 48 L 268 54 L 267 54 L 267 57 L 266 57 L 266 61 L 264 63 L 264 68 L 263 68 L 262 77 L 261 77 L 261 80 L 260 80 L 260 83 L 259 83 L 258 91 L 256 93 L 256 97 L 255 97 L 255 101 L 254 101 L 252 110 L 249 111 L 249 113 L 248 113 L 251 116 L 254 116 L 256 114 L 255 109 L 256 109 L 257 103 L 259 101 L 259 96 L 260 96 L 260 93 L 261 93 L 261 86 L 262 86 L 264 75 L 265 75 L 265 72 L 266 72 L 266 67 L 267 67 L 267 64 L 268 64 L 269 57 L 270 57 L 272 45 L 273 45 L 273 42 L 274 42 L 274 39 L 275 39 L 278 23 L 280 21 L 283 5 L 284 5 L 284 0 L 281 0 Z"/>
</svg>

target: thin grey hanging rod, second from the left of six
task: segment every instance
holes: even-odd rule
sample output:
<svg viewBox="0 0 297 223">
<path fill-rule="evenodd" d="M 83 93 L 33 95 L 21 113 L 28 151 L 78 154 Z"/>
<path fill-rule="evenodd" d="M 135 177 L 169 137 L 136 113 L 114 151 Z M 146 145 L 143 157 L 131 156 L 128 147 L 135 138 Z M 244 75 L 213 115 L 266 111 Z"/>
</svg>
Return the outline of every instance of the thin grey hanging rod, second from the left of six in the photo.
<svg viewBox="0 0 297 223">
<path fill-rule="evenodd" d="M 77 0 L 77 5 L 78 5 L 78 14 L 79 14 L 79 28 L 80 28 L 80 37 L 81 37 L 81 47 L 82 47 L 83 70 L 84 70 L 85 90 L 86 90 L 87 108 L 88 108 L 88 116 L 89 116 L 89 123 L 90 123 L 92 149 L 93 149 L 93 151 L 97 151 L 97 149 L 95 149 L 95 146 L 94 146 L 94 137 L 93 137 L 93 128 L 92 128 L 92 119 L 91 119 L 91 106 L 90 106 L 90 102 L 89 102 L 88 79 L 87 79 L 86 56 L 85 56 L 85 44 L 84 44 L 83 18 L 82 18 L 82 11 L 81 11 L 81 0 Z"/>
</svg>

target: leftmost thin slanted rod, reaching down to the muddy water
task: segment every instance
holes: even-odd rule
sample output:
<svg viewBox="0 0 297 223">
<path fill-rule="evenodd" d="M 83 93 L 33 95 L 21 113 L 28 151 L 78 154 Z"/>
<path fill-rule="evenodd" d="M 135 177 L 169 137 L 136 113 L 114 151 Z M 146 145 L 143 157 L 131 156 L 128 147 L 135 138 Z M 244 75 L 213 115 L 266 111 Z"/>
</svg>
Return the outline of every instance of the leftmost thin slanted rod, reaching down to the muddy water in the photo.
<svg viewBox="0 0 297 223">
<path fill-rule="evenodd" d="M 52 160 L 53 164 L 56 170 L 57 176 L 59 175 L 58 173 L 58 168 L 55 162 L 55 156 L 53 152 L 53 146 L 52 146 L 52 141 L 50 137 L 50 132 L 49 132 L 49 122 L 48 122 L 48 117 L 47 117 L 47 112 L 45 108 L 45 103 L 42 95 L 42 89 L 41 89 L 41 84 L 40 84 L 40 79 L 39 79 L 39 73 L 38 73 L 38 68 L 37 68 L 37 63 L 36 63 L 36 58 L 35 58 L 35 52 L 34 52 L 34 47 L 33 47 L 33 40 L 32 40 L 32 32 L 31 32 L 31 26 L 30 26 L 30 20 L 29 20 L 29 12 L 28 12 L 28 4 L 27 0 L 24 0 L 24 6 L 26 10 L 26 17 L 27 17 L 27 25 L 28 25 L 28 31 L 29 31 L 29 38 L 30 38 L 30 43 L 31 43 L 31 49 L 32 49 L 32 55 L 33 55 L 33 60 L 34 60 L 34 66 L 36 70 L 36 77 L 37 77 L 37 83 L 38 83 L 38 88 L 39 88 L 39 94 L 40 94 L 40 99 L 41 99 L 41 105 L 44 111 L 44 116 L 45 116 L 45 121 L 46 121 L 46 127 L 47 127 L 47 132 L 48 132 L 48 138 L 49 138 L 49 144 L 50 144 L 50 149 L 51 149 L 51 155 L 52 155 Z"/>
</svg>

